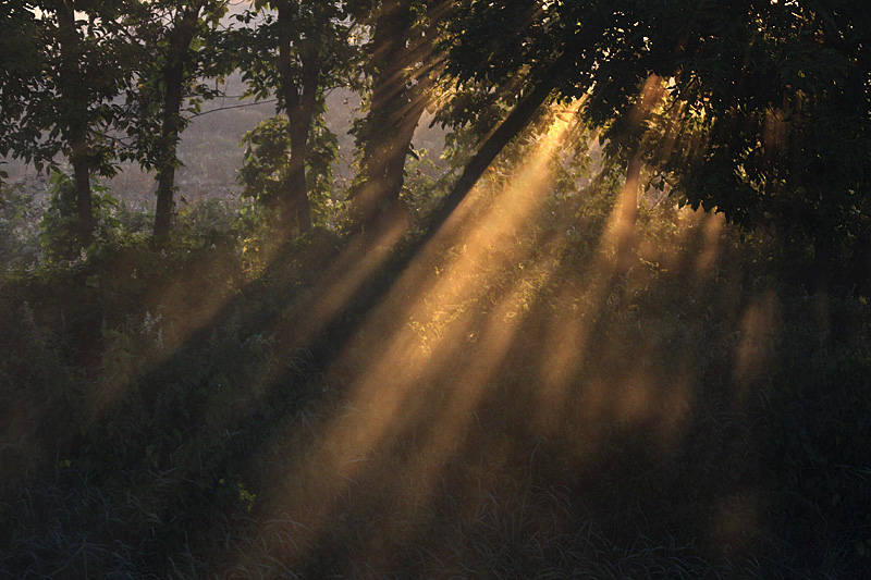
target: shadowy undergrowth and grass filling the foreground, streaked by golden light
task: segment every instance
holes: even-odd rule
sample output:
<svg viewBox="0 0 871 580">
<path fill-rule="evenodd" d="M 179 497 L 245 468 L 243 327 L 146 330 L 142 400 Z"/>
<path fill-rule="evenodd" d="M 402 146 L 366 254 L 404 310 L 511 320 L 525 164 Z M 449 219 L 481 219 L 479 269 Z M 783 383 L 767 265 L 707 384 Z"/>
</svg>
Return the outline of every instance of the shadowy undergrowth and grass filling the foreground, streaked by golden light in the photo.
<svg viewBox="0 0 871 580">
<path fill-rule="evenodd" d="M 378 249 L 324 230 L 10 270 L 0 571 L 866 577 L 866 298 L 717 215 L 621 232 L 614 198 L 481 201 L 329 328 Z"/>
</svg>

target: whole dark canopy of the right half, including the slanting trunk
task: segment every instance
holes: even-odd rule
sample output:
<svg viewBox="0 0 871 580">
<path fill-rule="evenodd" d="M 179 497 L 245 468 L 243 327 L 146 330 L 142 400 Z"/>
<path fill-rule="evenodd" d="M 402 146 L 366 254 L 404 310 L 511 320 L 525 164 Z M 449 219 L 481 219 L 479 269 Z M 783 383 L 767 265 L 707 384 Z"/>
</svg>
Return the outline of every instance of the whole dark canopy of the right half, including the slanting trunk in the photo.
<svg viewBox="0 0 871 580">
<path fill-rule="evenodd" d="M 694 207 L 813 238 L 823 255 L 866 239 L 869 29 L 871 7 L 839 0 L 465 2 L 449 71 L 507 87 L 514 104 L 445 212 L 543 103 L 584 98 L 611 155 L 643 161 Z"/>
</svg>

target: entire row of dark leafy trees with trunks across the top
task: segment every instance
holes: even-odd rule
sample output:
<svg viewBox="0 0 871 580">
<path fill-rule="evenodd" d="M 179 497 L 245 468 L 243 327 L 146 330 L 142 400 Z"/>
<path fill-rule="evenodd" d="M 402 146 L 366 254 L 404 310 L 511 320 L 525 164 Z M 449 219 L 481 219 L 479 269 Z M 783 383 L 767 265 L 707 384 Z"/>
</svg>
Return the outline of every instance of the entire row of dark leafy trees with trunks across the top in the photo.
<svg viewBox="0 0 871 580">
<path fill-rule="evenodd" d="M 481 136 L 446 213 L 548 102 L 579 100 L 612 159 L 692 207 L 813 238 L 825 251 L 862 246 L 871 227 L 866 3 L 256 2 L 235 28 L 219 26 L 221 2 L 161 7 L 4 4 L 0 153 L 46 164 L 64 152 L 83 223 L 93 221 L 87 176 L 113 171 L 110 134 L 126 132 L 160 174 L 156 233 L 167 234 L 182 101 L 196 107 L 213 94 L 206 82 L 235 67 L 249 95 L 274 97 L 289 120 L 280 197 L 297 231 L 311 223 L 305 166 L 324 91 L 360 89 L 364 77 L 371 97 L 348 193 L 358 221 L 397 198 L 425 109 Z M 209 29 L 223 51 L 211 57 Z M 138 119 L 122 121 L 118 99 L 134 86 L 140 106 L 127 111 Z M 149 112 L 161 99 L 162 116 Z"/>
</svg>

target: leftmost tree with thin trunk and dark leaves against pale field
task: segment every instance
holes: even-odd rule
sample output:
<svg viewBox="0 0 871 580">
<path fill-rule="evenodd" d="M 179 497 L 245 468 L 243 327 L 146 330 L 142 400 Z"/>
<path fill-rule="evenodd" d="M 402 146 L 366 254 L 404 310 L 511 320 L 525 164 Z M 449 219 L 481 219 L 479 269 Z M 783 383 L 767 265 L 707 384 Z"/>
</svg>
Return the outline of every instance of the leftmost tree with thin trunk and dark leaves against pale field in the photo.
<svg viewBox="0 0 871 580">
<path fill-rule="evenodd" d="M 0 155 L 53 168 L 62 153 L 74 188 L 61 199 L 87 244 L 95 225 L 90 175 L 112 175 L 113 99 L 131 78 L 125 3 L 10 2 L 3 21 Z"/>
</svg>

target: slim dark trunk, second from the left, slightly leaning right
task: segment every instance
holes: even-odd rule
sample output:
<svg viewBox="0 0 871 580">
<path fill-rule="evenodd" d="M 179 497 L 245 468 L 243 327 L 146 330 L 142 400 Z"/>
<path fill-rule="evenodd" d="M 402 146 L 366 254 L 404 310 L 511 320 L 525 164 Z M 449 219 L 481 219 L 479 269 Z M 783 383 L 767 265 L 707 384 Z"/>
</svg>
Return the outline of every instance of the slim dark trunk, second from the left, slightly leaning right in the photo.
<svg viewBox="0 0 871 580">
<path fill-rule="evenodd" d="M 182 100 L 184 98 L 185 70 L 189 65 L 188 48 L 196 34 L 199 7 L 186 9 L 169 35 L 167 63 L 163 66 L 163 111 L 160 127 L 160 162 L 157 172 L 157 209 L 155 211 L 155 239 L 163 243 L 169 238 L 175 208 L 175 168 L 177 165 L 179 139 L 182 129 Z"/>
</svg>

